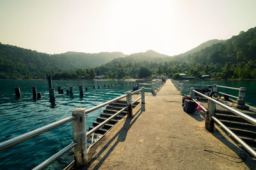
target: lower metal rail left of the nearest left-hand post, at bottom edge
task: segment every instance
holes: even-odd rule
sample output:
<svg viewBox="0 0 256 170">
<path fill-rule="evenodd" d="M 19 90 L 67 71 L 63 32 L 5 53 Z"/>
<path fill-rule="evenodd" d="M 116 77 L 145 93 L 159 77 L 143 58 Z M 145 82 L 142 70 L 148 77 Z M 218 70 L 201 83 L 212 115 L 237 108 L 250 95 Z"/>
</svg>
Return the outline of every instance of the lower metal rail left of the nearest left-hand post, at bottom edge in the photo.
<svg viewBox="0 0 256 170">
<path fill-rule="evenodd" d="M 55 153 L 54 155 L 52 155 L 51 157 L 49 157 L 49 159 L 45 160 L 44 162 L 42 162 L 42 163 L 39 164 L 38 166 L 34 167 L 33 170 L 44 169 L 45 167 L 49 166 L 49 164 L 51 164 L 52 162 L 54 162 L 54 160 L 58 159 L 59 157 L 61 157 L 61 156 L 64 155 L 65 153 L 67 153 L 69 150 L 71 150 L 72 148 L 74 148 L 76 145 L 77 145 L 76 142 L 70 143 L 70 145 L 66 146 L 65 148 L 63 148 L 63 149 L 60 150 L 59 152 L 57 152 L 57 153 Z"/>
</svg>

